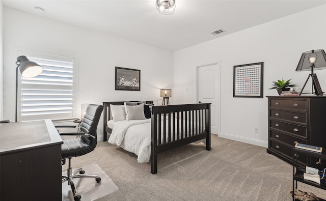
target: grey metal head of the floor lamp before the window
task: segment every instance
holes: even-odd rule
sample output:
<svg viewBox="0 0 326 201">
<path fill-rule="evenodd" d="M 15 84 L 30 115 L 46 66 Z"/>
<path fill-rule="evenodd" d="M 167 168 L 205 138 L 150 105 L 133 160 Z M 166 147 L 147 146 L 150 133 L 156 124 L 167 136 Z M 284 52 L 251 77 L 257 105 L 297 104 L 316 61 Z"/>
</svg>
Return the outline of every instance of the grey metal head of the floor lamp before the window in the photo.
<svg viewBox="0 0 326 201">
<path fill-rule="evenodd" d="M 19 65 L 21 76 L 25 78 L 36 77 L 43 72 L 43 68 L 40 65 L 31 62 L 26 56 L 18 56 L 16 64 Z"/>
</svg>

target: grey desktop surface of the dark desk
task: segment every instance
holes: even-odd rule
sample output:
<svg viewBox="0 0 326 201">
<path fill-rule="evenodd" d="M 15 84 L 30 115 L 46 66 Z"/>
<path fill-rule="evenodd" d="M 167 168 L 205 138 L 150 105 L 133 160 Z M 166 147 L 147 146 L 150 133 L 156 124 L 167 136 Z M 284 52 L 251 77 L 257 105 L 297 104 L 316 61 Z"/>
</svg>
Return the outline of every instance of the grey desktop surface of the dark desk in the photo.
<svg viewBox="0 0 326 201">
<path fill-rule="evenodd" d="M 62 144 L 51 120 L 0 124 L 0 155 Z"/>
</svg>

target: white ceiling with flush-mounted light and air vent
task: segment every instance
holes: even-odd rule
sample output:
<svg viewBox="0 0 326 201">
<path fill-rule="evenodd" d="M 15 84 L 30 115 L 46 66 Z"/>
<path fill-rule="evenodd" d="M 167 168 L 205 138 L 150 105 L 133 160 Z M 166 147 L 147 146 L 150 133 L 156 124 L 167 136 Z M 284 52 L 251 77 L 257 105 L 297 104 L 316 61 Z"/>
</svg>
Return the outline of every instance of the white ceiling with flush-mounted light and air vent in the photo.
<svg viewBox="0 0 326 201">
<path fill-rule="evenodd" d="M 320 6 L 326 0 L 176 0 L 172 15 L 159 14 L 155 0 L 2 2 L 5 7 L 175 51 Z M 221 28 L 226 32 L 211 34 Z"/>
</svg>

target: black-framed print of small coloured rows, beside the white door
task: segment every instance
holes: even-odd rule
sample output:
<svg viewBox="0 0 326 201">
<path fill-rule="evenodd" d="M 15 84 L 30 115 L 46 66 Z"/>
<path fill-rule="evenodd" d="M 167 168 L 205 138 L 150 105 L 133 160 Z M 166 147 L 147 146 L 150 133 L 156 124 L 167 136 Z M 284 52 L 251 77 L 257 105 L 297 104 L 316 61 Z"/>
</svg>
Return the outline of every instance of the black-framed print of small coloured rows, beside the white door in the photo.
<svg viewBox="0 0 326 201">
<path fill-rule="evenodd" d="M 263 98 L 264 63 L 233 66 L 233 97 Z"/>
</svg>

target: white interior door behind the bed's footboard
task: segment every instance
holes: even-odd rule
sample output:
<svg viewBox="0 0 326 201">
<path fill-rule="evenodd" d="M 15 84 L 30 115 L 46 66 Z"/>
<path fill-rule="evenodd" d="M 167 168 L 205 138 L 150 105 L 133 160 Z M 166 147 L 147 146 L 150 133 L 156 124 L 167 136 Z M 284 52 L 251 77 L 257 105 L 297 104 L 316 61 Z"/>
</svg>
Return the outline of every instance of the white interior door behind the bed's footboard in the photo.
<svg viewBox="0 0 326 201">
<path fill-rule="evenodd" d="M 220 132 L 220 62 L 199 66 L 197 69 L 197 99 L 201 103 L 211 103 L 211 133 Z"/>
</svg>

